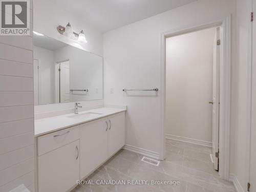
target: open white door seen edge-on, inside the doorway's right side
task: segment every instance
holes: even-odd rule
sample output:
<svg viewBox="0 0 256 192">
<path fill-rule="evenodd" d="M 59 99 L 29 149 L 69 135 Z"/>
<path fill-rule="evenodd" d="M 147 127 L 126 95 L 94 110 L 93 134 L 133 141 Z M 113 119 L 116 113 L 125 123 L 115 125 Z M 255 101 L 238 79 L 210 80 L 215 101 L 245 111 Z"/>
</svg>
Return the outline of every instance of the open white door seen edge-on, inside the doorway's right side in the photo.
<svg viewBox="0 0 256 192">
<path fill-rule="evenodd" d="M 220 28 L 216 29 L 214 39 L 213 90 L 212 90 L 212 155 L 214 168 L 219 164 L 219 101 L 220 101 Z"/>
</svg>

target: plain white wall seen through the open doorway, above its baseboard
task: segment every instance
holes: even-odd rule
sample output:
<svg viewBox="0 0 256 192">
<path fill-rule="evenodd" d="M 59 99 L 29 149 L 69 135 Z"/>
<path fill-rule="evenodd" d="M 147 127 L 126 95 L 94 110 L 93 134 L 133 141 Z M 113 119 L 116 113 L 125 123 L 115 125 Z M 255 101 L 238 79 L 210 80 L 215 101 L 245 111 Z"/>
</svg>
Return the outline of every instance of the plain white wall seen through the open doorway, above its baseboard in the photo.
<svg viewBox="0 0 256 192">
<path fill-rule="evenodd" d="M 166 39 L 166 134 L 212 141 L 216 28 Z"/>
</svg>

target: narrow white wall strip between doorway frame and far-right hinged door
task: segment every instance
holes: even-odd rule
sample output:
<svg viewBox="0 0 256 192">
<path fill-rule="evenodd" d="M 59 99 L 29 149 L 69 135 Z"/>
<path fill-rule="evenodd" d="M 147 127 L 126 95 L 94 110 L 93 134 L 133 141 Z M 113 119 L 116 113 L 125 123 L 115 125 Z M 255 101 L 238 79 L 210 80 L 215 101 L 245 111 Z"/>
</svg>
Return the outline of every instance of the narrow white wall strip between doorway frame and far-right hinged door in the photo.
<svg viewBox="0 0 256 192">
<path fill-rule="evenodd" d="M 246 173 L 246 143 L 247 143 L 247 84 L 248 84 L 248 33 L 250 0 L 237 1 L 237 65 L 233 66 L 231 107 L 233 112 L 231 126 L 233 128 L 234 174 L 244 191 L 247 191 L 248 173 Z"/>
</svg>

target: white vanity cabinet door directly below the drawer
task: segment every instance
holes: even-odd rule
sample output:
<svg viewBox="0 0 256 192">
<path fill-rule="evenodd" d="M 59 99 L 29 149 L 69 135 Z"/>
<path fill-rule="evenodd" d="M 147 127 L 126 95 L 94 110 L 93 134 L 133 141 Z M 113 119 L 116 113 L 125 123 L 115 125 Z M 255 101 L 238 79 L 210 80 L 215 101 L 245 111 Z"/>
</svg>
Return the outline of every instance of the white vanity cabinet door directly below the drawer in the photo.
<svg viewBox="0 0 256 192">
<path fill-rule="evenodd" d="M 39 192 L 68 191 L 79 180 L 79 140 L 38 156 Z"/>
</svg>

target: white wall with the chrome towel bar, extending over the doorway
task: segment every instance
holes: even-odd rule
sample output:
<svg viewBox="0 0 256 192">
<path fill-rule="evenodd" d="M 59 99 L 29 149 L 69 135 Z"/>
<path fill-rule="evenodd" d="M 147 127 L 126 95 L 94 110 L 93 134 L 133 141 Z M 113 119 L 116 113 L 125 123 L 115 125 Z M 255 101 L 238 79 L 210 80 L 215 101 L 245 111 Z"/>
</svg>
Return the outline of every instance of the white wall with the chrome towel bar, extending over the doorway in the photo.
<svg viewBox="0 0 256 192">
<path fill-rule="evenodd" d="M 126 144 L 160 152 L 159 95 L 136 97 L 122 92 L 123 88 L 160 87 L 160 33 L 229 14 L 232 14 L 231 44 L 235 48 L 236 1 L 233 0 L 199 0 L 104 34 L 104 101 L 127 104 Z M 232 65 L 235 53 L 232 49 Z M 232 157 L 233 154 L 231 161 Z"/>
</svg>

